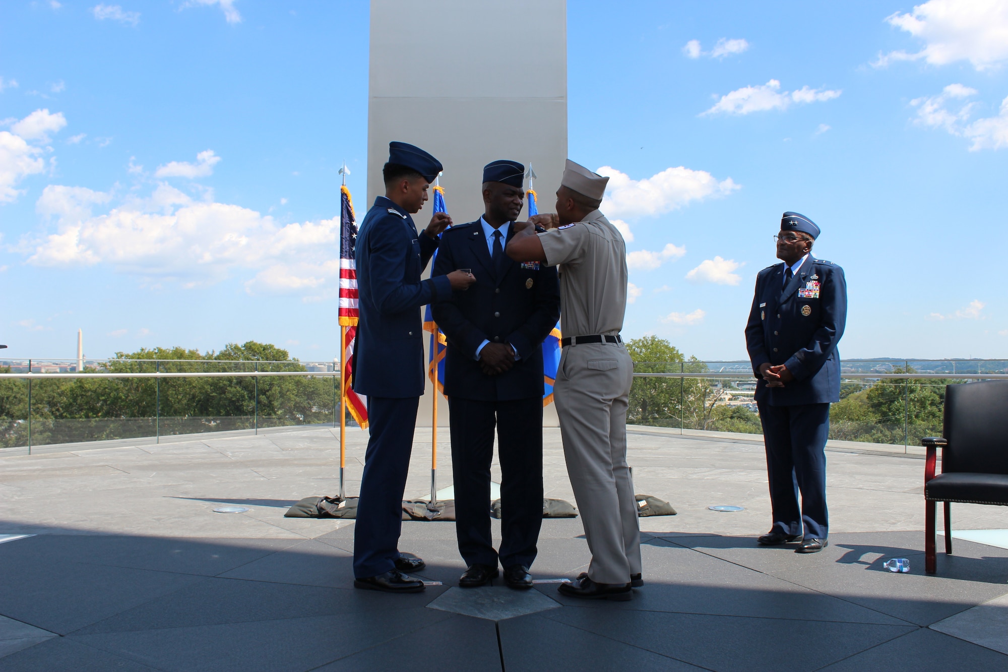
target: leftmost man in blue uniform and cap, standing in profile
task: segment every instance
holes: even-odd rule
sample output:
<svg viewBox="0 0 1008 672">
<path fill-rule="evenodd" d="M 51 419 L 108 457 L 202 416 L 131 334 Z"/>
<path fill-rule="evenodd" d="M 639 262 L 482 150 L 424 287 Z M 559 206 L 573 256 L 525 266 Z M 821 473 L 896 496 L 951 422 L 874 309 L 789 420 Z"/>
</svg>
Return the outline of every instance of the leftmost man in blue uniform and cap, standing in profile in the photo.
<svg viewBox="0 0 1008 672">
<path fill-rule="evenodd" d="M 440 162 L 405 142 L 390 142 L 385 196 L 375 199 L 357 236 L 360 322 L 354 350 L 354 391 L 368 398 L 370 439 L 354 530 L 354 585 L 388 592 L 417 592 L 423 582 L 405 571 L 419 558 L 399 556 L 402 494 L 413 445 L 416 410 L 423 394 L 420 307 L 452 296 L 475 278 L 460 271 L 420 281 L 452 219 L 438 213 L 422 234 L 411 214 L 427 200 Z"/>
</svg>

